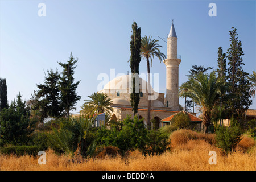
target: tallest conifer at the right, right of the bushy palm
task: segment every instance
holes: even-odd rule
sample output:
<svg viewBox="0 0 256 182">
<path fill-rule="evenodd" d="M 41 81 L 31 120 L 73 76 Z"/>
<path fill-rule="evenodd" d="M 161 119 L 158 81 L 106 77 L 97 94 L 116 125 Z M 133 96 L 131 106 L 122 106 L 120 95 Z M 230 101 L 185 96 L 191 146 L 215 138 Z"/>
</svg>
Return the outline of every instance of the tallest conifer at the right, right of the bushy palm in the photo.
<svg viewBox="0 0 256 182">
<path fill-rule="evenodd" d="M 228 101 L 227 104 L 230 109 L 230 116 L 234 118 L 242 118 L 245 111 L 251 105 L 250 100 L 250 83 L 247 80 L 249 73 L 242 69 L 243 63 L 242 56 L 242 43 L 238 40 L 236 28 L 232 27 L 230 33 L 230 48 L 227 51 L 228 73 L 227 78 L 230 86 L 228 88 Z"/>
</svg>

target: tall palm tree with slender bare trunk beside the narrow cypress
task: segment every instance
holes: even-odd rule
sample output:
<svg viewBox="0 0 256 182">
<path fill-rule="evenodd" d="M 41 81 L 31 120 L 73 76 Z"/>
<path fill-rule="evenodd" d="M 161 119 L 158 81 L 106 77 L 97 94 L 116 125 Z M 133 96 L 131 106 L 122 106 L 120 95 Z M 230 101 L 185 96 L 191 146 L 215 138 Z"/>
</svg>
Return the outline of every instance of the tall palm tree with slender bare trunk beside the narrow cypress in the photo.
<svg viewBox="0 0 256 182">
<path fill-rule="evenodd" d="M 151 90 L 150 90 L 150 62 L 149 59 L 151 60 L 151 67 L 153 64 L 152 58 L 154 58 L 154 56 L 158 57 L 158 59 L 160 60 L 160 62 L 162 61 L 162 59 L 166 59 L 166 56 L 160 52 L 159 47 L 160 46 L 157 42 L 159 40 L 155 40 L 155 39 L 151 39 L 151 36 L 149 36 L 147 38 L 147 36 L 144 36 L 141 39 L 141 57 L 143 57 L 144 59 L 146 58 L 147 60 L 147 81 L 148 81 L 148 95 L 150 95 Z M 148 99 L 148 107 L 147 107 L 147 126 L 148 129 L 150 129 L 151 126 L 151 122 L 150 122 L 150 108 L 151 108 L 151 100 Z"/>
</svg>

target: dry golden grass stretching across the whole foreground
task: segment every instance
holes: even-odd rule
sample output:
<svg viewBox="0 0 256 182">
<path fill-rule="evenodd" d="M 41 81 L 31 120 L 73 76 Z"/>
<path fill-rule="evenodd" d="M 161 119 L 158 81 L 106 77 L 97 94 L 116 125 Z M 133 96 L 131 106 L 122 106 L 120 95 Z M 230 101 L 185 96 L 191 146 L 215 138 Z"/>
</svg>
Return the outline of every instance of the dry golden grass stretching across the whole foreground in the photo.
<svg viewBox="0 0 256 182">
<path fill-rule="evenodd" d="M 214 135 L 180 130 L 171 135 L 172 151 L 160 156 L 142 156 L 139 151 L 130 152 L 124 160 L 117 155 L 101 159 L 87 159 L 73 163 L 69 156 L 56 155 L 52 150 L 46 151 L 46 165 L 39 165 L 38 158 L 29 155 L 16 157 L 0 155 L 1 170 L 94 170 L 94 171 L 170 171 L 170 170 L 256 170 L 256 147 L 254 140 L 244 137 L 238 148 L 228 156 L 222 156 L 221 150 L 214 146 Z M 247 149 L 246 149 L 247 148 Z M 217 164 L 210 165 L 209 151 L 216 151 Z"/>
</svg>

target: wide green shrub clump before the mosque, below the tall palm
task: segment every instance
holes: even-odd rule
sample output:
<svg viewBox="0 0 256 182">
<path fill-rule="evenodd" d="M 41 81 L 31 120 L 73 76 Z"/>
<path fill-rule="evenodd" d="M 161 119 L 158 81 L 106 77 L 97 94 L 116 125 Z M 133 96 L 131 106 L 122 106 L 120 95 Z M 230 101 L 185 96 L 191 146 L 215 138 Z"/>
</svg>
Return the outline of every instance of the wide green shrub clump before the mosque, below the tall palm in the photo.
<svg viewBox="0 0 256 182">
<path fill-rule="evenodd" d="M 122 154 L 138 149 L 144 155 L 158 155 L 167 150 L 168 136 L 160 131 L 150 131 L 144 127 L 143 119 L 127 116 L 123 121 L 113 123 L 110 130 L 102 127 L 97 131 L 98 144 L 115 146 Z"/>
</svg>

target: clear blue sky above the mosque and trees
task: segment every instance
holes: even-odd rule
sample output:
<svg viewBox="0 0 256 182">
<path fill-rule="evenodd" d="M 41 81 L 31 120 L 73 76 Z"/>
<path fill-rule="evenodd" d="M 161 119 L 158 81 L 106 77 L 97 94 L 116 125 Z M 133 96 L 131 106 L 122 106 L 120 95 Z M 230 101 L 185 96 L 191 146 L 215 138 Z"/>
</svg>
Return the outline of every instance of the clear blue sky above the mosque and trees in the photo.
<svg viewBox="0 0 256 182">
<path fill-rule="evenodd" d="M 216 17 L 208 15 L 212 2 L 217 6 Z M 46 16 L 38 16 L 39 3 L 45 3 Z M 79 58 L 75 69 L 75 80 L 81 80 L 79 111 L 87 96 L 97 92 L 100 73 L 130 71 L 133 20 L 142 36 L 159 39 L 167 37 L 171 19 L 182 56 L 179 85 L 187 81 L 192 65 L 217 68 L 218 47 L 226 52 L 232 27 L 242 41 L 243 69 L 251 74 L 256 70 L 255 9 L 255 1 L 0 0 L 0 77 L 6 78 L 9 103 L 19 92 L 28 100 L 36 84 L 43 83 L 44 71 L 61 71 L 57 61 L 67 61 L 72 51 Z M 166 54 L 167 44 L 161 39 L 159 44 Z M 146 72 L 146 60 L 142 60 L 140 73 Z M 159 92 L 166 93 L 164 63 L 155 59 L 151 73 L 159 73 Z M 180 104 L 184 105 L 181 98 Z M 256 98 L 250 109 L 256 109 Z"/>
</svg>

